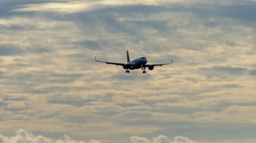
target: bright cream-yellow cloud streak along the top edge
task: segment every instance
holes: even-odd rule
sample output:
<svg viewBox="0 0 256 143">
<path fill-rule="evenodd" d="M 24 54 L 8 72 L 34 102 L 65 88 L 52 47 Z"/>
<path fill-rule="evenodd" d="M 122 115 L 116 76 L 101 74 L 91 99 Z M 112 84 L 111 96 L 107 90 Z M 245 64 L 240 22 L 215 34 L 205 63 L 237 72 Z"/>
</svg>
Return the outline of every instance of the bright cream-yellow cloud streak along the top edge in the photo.
<svg viewBox="0 0 256 143">
<path fill-rule="evenodd" d="M 61 12 L 61 13 L 76 13 L 76 12 L 83 12 L 83 11 L 92 11 L 92 10 L 99 10 L 99 9 L 106 9 L 106 8 L 114 8 L 117 6 L 125 6 L 125 5 L 167 5 L 171 3 L 193 3 L 196 1 L 114 1 L 114 0 L 107 0 L 107 1 L 76 1 L 76 2 L 66 2 L 66 3 L 43 3 L 43 4 L 27 4 L 22 5 L 20 8 L 14 9 L 12 11 L 21 12 L 21 11 L 38 11 L 38 12 Z"/>
</svg>

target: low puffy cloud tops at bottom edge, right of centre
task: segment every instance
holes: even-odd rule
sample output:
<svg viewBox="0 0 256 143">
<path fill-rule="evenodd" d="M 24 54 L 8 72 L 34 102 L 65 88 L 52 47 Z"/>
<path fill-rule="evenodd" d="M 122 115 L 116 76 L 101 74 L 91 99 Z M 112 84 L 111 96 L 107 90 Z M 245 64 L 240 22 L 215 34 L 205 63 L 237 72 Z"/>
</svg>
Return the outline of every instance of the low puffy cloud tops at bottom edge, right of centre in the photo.
<svg viewBox="0 0 256 143">
<path fill-rule="evenodd" d="M 196 141 L 192 141 L 186 137 L 175 137 L 174 141 L 170 141 L 166 136 L 159 135 L 156 138 L 153 138 L 153 141 L 149 141 L 147 138 L 142 137 L 131 137 L 130 138 L 131 143 L 197 143 Z"/>
</svg>

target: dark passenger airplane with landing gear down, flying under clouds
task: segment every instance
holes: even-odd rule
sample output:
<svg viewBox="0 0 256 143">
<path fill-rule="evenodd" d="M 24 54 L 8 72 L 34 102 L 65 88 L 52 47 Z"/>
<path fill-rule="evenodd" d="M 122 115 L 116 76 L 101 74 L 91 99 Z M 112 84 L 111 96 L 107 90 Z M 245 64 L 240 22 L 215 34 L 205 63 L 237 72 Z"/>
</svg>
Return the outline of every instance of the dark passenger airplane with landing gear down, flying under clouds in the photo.
<svg viewBox="0 0 256 143">
<path fill-rule="evenodd" d="M 95 61 L 96 62 L 103 62 L 103 63 L 107 63 L 107 64 L 115 64 L 117 66 L 123 66 L 123 68 L 126 69 L 126 73 L 130 73 L 129 69 L 133 70 L 133 69 L 140 69 L 141 68 L 143 70 L 142 71 L 143 74 L 146 73 L 146 71 L 145 71 L 146 68 L 148 68 L 149 70 L 153 70 L 155 66 L 160 66 L 161 67 L 163 65 L 173 63 L 173 59 L 172 59 L 170 63 L 146 64 L 148 60 L 144 56 L 140 56 L 137 59 L 130 61 L 128 50 L 127 50 L 126 54 L 127 54 L 127 63 L 115 63 L 115 62 L 98 61 L 98 60 L 96 60 L 96 56 L 95 56 Z"/>
</svg>

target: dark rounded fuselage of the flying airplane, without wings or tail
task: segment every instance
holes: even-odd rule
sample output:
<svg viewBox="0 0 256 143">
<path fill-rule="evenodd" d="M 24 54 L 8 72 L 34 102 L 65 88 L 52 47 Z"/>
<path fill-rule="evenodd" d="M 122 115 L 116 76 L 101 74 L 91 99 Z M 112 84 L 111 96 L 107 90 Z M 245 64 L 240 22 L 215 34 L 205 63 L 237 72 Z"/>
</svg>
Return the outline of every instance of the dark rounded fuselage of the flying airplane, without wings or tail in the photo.
<svg viewBox="0 0 256 143">
<path fill-rule="evenodd" d="M 140 69 L 142 67 L 144 67 L 144 65 L 147 63 L 147 58 L 146 57 L 138 57 L 137 59 L 135 60 L 132 60 L 130 62 L 127 62 L 125 65 L 124 65 L 124 69 Z"/>
</svg>

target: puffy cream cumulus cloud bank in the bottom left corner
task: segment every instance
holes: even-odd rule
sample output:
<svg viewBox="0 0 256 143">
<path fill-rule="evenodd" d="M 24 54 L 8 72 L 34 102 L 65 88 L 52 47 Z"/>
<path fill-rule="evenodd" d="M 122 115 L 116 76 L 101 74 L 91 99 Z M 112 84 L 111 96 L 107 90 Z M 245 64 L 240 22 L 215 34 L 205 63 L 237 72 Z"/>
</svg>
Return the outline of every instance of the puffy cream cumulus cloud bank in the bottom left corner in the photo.
<svg viewBox="0 0 256 143">
<path fill-rule="evenodd" d="M 42 135 L 35 136 L 23 129 L 16 131 L 16 135 L 5 137 L 0 135 L 0 143 L 101 143 L 99 140 L 91 140 L 88 142 L 72 140 L 68 135 L 64 135 L 63 139 L 51 139 Z"/>
</svg>

